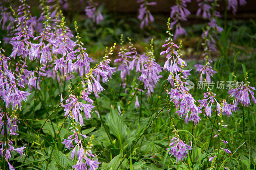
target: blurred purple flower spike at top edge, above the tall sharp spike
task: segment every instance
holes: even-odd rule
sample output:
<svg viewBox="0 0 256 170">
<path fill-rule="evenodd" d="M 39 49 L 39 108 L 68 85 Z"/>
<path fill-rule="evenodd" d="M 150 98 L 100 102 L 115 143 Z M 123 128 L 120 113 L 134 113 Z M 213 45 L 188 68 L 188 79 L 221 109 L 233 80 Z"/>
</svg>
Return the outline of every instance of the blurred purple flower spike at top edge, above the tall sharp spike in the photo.
<svg viewBox="0 0 256 170">
<path fill-rule="evenodd" d="M 187 9 L 187 4 L 190 3 L 191 0 L 177 0 L 176 5 L 171 7 L 170 17 L 172 18 L 172 22 L 170 24 L 171 27 L 176 26 L 174 33 L 174 40 L 180 35 L 187 35 L 187 32 L 184 28 L 181 27 L 180 21 L 187 21 L 188 15 L 190 12 Z"/>
</svg>

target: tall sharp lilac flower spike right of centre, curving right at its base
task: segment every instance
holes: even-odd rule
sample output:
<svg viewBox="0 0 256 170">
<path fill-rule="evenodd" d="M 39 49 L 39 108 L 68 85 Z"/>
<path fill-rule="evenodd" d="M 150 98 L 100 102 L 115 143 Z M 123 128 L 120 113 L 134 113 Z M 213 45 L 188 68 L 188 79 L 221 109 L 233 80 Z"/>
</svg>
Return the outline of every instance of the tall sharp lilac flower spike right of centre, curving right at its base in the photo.
<svg viewBox="0 0 256 170">
<path fill-rule="evenodd" d="M 168 46 L 165 51 L 162 51 L 160 55 L 166 55 L 167 61 L 164 63 L 163 70 L 169 71 L 170 75 L 168 77 L 168 81 L 171 83 L 172 87 L 170 92 L 170 101 L 174 102 L 178 115 L 182 118 L 185 116 L 186 124 L 188 121 L 193 120 L 194 124 L 201 120 L 199 117 L 199 113 L 202 113 L 200 110 L 201 107 L 197 107 L 195 102 L 196 100 L 192 97 L 192 95 L 188 92 L 188 88 L 185 87 L 186 82 L 184 82 L 188 75 L 190 75 L 190 70 L 184 70 L 184 67 L 187 66 L 187 63 L 182 60 L 180 57 L 182 54 L 180 53 L 180 48 L 182 47 L 181 43 L 180 46 L 175 44 L 172 41 L 172 34 L 170 32 L 170 19 L 168 19 L 167 27 L 168 27 L 168 39 L 165 41 L 162 47 Z M 170 61 L 171 60 L 171 64 Z M 190 115 L 189 115 L 190 113 Z"/>
</svg>

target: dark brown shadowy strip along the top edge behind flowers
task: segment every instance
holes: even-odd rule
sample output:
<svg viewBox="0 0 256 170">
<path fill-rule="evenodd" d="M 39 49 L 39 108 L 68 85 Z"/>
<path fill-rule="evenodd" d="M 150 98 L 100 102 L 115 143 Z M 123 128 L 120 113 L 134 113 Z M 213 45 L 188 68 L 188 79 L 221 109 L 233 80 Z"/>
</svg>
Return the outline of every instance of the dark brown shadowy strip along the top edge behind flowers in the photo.
<svg viewBox="0 0 256 170">
<path fill-rule="evenodd" d="M 93 2 L 98 3 L 99 5 L 104 4 L 108 12 L 116 13 L 118 16 L 126 14 L 137 14 L 140 4 L 136 2 L 137 0 L 94 0 Z M 149 6 L 149 10 L 152 14 L 163 15 L 168 17 L 170 15 L 170 7 L 175 5 L 175 0 L 152 0 L 157 2 L 155 6 Z M 151 2 L 151 1 L 149 1 Z M 238 5 L 236 15 L 232 13 L 231 10 L 227 12 L 227 18 L 235 19 L 256 19 L 256 0 L 246 0 L 247 4 L 244 6 Z M 39 2 L 36 0 L 29 0 L 28 3 L 33 6 L 38 6 Z M 226 8 L 226 3 L 224 0 L 218 2 L 220 6 L 217 11 L 219 11 L 224 17 L 224 12 Z M 85 14 L 84 7 L 86 5 L 86 0 L 81 4 L 80 0 L 68 0 L 69 4 L 69 14 L 73 15 L 74 13 Z M 198 20 L 196 17 L 196 10 L 198 9 L 198 2 L 192 0 L 191 3 L 188 3 L 188 10 L 191 12 L 191 15 L 188 16 L 188 20 Z"/>
</svg>

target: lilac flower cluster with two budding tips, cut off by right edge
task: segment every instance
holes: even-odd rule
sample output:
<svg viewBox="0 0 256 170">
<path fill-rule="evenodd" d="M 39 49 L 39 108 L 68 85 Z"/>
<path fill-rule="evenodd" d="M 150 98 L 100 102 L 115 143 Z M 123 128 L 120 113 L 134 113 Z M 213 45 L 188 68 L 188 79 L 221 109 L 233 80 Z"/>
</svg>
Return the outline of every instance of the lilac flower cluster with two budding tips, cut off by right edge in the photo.
<svg viewBox="0 0 256 170">
<path fill-rule="evenodd" d="M 233 73 L 233 76 L 236 77 Z M 250 96 L 254 104 L 256 104 L 256 100 L 254 97 L 255 87 L 250 86 L 250 82 L 248 81 L 248 73 L 245 73 L 245 84 L 238 84 L 238 82 L 235 80 L 235 84 L 233 87 L 228 90 L 228 93 L 230 94 L 230 97 L 234 97 L 234 107 L 233 110 L 238 110 L 237 106 L 239 103 L 242 104 L 242 106 L 250 106 Z"/>
</svg>

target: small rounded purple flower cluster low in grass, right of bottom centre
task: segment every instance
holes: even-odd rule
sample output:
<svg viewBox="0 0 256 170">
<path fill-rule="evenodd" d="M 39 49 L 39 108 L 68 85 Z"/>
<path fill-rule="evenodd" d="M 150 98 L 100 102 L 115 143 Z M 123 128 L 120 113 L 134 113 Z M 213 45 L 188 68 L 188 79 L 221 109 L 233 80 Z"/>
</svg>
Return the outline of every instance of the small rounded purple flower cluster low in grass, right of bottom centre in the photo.
<svg viewBox="0 0 256 170">
<path fill-rule="evenodd" d="M 176 161 L 181 161 L 187 157 L 188 150 L 191 150 L 192 147 L 188 144 L 185 144 L 179 137 L 173 137 L 169 146 L 172 146 L 169 155 L 176 157 Z M 166 148 L 168 151 L 169 148 Z"/>
</svg>

